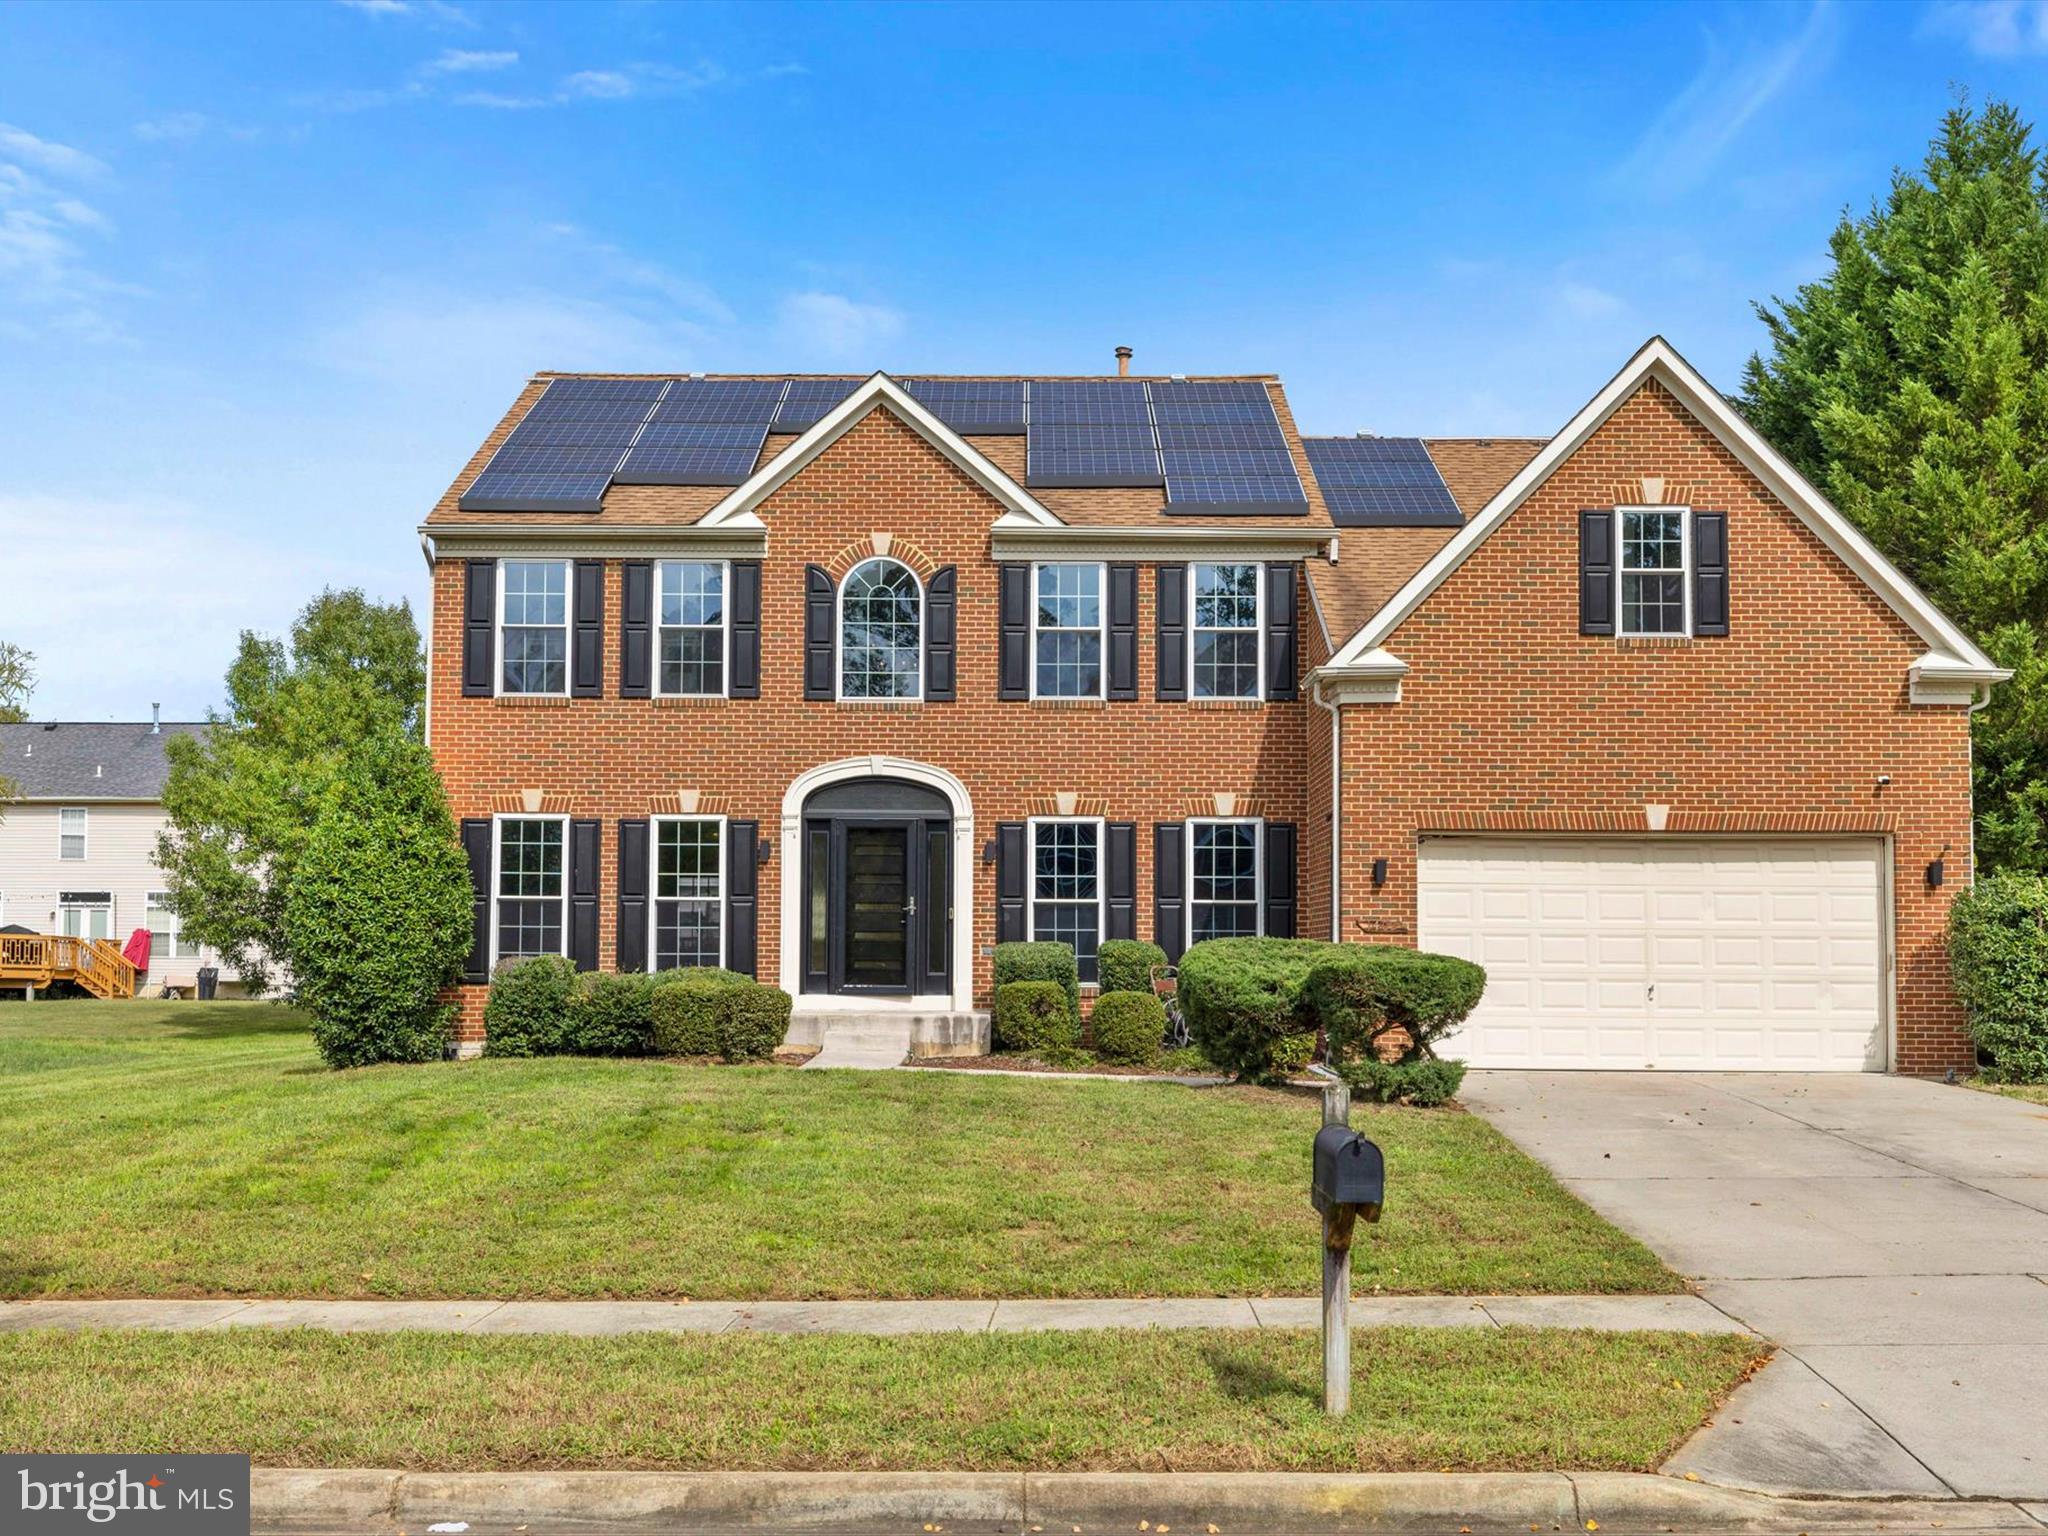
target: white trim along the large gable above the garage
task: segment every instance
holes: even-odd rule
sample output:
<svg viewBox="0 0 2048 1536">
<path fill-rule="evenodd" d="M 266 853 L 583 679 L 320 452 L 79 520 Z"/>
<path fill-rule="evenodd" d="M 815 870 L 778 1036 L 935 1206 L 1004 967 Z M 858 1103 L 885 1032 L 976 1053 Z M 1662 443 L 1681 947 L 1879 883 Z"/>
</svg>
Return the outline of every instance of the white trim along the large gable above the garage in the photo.
<svg viewBox="0 0 2048 1536">
<path fill-rule="evenodd" d="M 1649 379 L 1669 389 L 1677 401 L 1733 453 L 1812 535 L 1855 571 L 1944 662 L 1952 664 L 1944 684 L 2005 682 L 2011 676 L 1985 655 L 1948 614 L 1927 600 L 1876 547 L 1817 492 L 1722 395 L 1700 377 L 1677 348 L 1653 336 L 1628 358 L 1606 387 L 1573 416 L 1565 428 L 1530 459 L 1501 492 L 1466 522 L 1407 584 L 1395 592 L 1366 625 L 1343 643 L 1321 674 L 1346 674 L 1372 653 L 1384 653 L 1389 637 L 1413 614 L 1507 516 L 1597 432 Z M 1915 664 L 1925 668 L 1927 657 Z M 1935 668 L 1942 672 L 1942 668 Z M 1915 700 L 1935 702 L 1935 700 Z"/>
</svg>

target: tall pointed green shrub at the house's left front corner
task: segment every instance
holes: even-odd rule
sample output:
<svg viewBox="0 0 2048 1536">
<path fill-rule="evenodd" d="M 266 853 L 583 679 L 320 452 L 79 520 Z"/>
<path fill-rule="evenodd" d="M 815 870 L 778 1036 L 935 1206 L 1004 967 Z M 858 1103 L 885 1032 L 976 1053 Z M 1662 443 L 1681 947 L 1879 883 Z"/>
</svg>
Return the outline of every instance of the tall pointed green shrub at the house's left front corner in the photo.
<svg viewBox="0 0 2048 1536">
<path fill-rule="evenodd" d="M 285 895 L 295 999 L 330 1067 L 438 1061 L 440 993 L 471 938 L 469 864 L 426 748 L 369 741 L 342 770 Z"/>
</svg>

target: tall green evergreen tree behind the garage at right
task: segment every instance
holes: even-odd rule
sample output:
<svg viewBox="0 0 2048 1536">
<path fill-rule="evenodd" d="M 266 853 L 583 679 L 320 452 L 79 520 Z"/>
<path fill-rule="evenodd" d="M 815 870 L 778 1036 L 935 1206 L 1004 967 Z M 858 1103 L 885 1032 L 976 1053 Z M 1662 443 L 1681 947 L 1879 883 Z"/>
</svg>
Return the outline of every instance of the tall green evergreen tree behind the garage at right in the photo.
<svg viewBox="0 0 2048 1536">
<path fill-rule="evenodd" d="M 1991 655 L 1978 858 L 2048 868 L 2048 174 L 2005 102 L 1843 215 L 1833 270 L 1757 305 L 1741 406 Z"/>
</svg>

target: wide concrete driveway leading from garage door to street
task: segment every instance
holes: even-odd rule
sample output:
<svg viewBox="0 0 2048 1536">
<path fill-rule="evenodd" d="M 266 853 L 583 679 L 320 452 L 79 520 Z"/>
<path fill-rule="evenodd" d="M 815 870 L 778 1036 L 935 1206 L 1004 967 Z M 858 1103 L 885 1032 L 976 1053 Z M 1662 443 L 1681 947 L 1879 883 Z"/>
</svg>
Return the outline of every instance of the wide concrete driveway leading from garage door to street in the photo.
<svg viewBox="0 0 2048 1536">
<path fill-rule="evenodd" d="M 1790 1073 L 1475 1071 L 1464 1102 L 1782 1346 L 1669 1470 L 2048 1499 L 2048 1108 Z"/>
</svg>

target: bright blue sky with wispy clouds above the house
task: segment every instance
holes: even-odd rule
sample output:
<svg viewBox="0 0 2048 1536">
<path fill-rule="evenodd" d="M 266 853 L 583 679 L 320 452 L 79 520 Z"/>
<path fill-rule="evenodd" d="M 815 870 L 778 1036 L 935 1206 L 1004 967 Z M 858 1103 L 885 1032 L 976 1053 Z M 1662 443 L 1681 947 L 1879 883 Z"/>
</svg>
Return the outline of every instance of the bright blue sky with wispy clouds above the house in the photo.
<svg viewBox="0 0 2048 1536">
<path fill-rule="evenodd" d="M 1753 299 L 2048 2 L 0 8 L 0 639 L 190 717 L 535 369 L 1276 371 L 1550 432 Z"/>
</svg>

